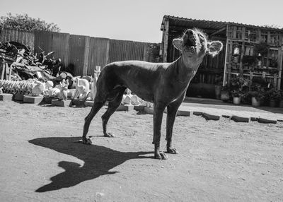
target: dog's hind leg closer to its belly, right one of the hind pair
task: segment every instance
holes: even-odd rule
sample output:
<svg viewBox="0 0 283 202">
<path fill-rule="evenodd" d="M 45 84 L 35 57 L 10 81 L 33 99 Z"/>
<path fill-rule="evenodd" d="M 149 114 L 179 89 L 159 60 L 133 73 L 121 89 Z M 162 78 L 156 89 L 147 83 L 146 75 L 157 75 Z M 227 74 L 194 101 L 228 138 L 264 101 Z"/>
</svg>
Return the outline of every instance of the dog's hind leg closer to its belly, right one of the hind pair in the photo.
<svg viewBox="0 0 283 202">
<path fill-rule="evenodd" d="M 103 134 L 105 137 L 114 137 L 112 133 L 108 133 L 107 131 L 107 123 L 108 120 L 110 119 L 111 115 L 116 111 L 116 109 L 121 105 L 123 94 L 125 92 L 126 88 L 121 87 L 117 95 L 113 100 L 108 102 L 108 109 L 106 112 L 103 114 L 102 118 L 102 123 L 103 123 Z"/>
</svg>

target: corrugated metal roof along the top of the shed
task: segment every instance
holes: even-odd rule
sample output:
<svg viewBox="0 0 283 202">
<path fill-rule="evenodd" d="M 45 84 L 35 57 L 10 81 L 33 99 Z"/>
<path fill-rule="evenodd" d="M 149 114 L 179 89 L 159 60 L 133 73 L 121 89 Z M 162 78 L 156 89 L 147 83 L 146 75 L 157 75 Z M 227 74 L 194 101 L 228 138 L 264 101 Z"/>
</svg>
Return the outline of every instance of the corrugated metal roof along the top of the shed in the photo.
<svg viewBox="0 0 283 202">
<path fill-rule="evenodd" d="M 275 30 L 277 32 L 283 32 L 283 29 L 279 28 L 267 28 L 264 26 L 258 25 L 248 25 L 243 23 L 234 23 L 234 22 L 221 22 L 221 21 L 213 21 L 213 20 L 197 20 L 192 18 L 181 18 L 176 16 L 163 16 L 163 20 L 161 23 L 161 30 L 163 30 L 164 20 L 169 20 L 169 26 L 175 26 L 180 28 L 200 28 L 205 30 L 220 30 L 224 28 L 226 25 L 236 25 L 236 26 L 245 26 L 250 28 L 260 28 L 260 29 L 268 29 Z"/>
</svg>

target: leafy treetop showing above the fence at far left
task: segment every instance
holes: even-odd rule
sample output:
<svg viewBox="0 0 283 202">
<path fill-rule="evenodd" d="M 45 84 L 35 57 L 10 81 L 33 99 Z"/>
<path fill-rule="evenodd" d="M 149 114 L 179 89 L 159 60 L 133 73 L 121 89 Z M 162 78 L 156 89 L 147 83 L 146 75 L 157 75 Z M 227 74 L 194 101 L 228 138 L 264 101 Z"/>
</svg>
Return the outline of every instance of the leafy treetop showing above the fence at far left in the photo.
<svg viewBox="0 0 283 202">
<path fill-rule="evenodd" d="M 28 32 L 34 30 L 60 31 L 60 28 L 54 23 L 46 23 L 45 20 L 40 20 L 40 18 L 30 18 L 28 14 L 16 14 L 16 16 L 13 16 L 11 13 L 0 17 L 0 28 L 11 28 Z"/>
</svg>

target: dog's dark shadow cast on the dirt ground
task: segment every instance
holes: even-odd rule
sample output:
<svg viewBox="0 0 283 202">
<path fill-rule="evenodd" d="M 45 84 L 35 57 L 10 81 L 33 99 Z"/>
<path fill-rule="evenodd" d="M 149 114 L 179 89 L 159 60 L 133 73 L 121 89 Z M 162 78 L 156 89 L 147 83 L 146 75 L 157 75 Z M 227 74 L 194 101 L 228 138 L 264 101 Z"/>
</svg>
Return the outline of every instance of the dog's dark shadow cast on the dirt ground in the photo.
<svg viewBox="0 0 283 202">
<path fill-rule="evenodd" d="M 59 162 L 58 166 L 62 167 L 65 171 L 51 177 L 50 180 L 52 182 L 40 187 L 36 192 L 53 191 L 76 186 L 76 184 L 80 184 L 86 180 L 96 179 L 105 174 L 115 174 L 116 172 L 110 172 L 110 170 L 127 160 L 152 158 L 141 156 L 152 152 L 120 152 L 100 145 L 83 145 L 82 143 L 76 143 L 80 139 L 81 138 L 77 137 L 50 137 L 36 138 L 29 141 L 29 143 L 33 143 L 34 145 L 72 155 L 84 162 L 83 165 L 77 162 Z"/>
</svg>

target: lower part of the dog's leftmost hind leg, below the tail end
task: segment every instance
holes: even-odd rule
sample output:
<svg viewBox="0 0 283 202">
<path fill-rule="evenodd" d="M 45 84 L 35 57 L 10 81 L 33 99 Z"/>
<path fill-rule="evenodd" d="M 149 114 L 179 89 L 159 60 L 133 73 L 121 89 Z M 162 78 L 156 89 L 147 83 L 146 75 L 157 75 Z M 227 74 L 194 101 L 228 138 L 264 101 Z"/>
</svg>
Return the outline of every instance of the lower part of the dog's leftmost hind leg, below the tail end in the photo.
<svg viewBox="0 0 283 202">
<path fill-rule="evenodd" d="M 87 145 L 91 145 L 91 139 L 88 138 L 87 133 L 89 129 L 89 125 L 91 124 L 91 120 L 94 116 L 96 116 L 96 113 L 103 107 L 105 101 L 97 101 L 95 100 L 93 103 L 93 107 L 91 108 L 91 112 L 89 112 L 88 116 L 84 119 L 84 125 L 83 125 L 83 143 Z"/>
</svg>

